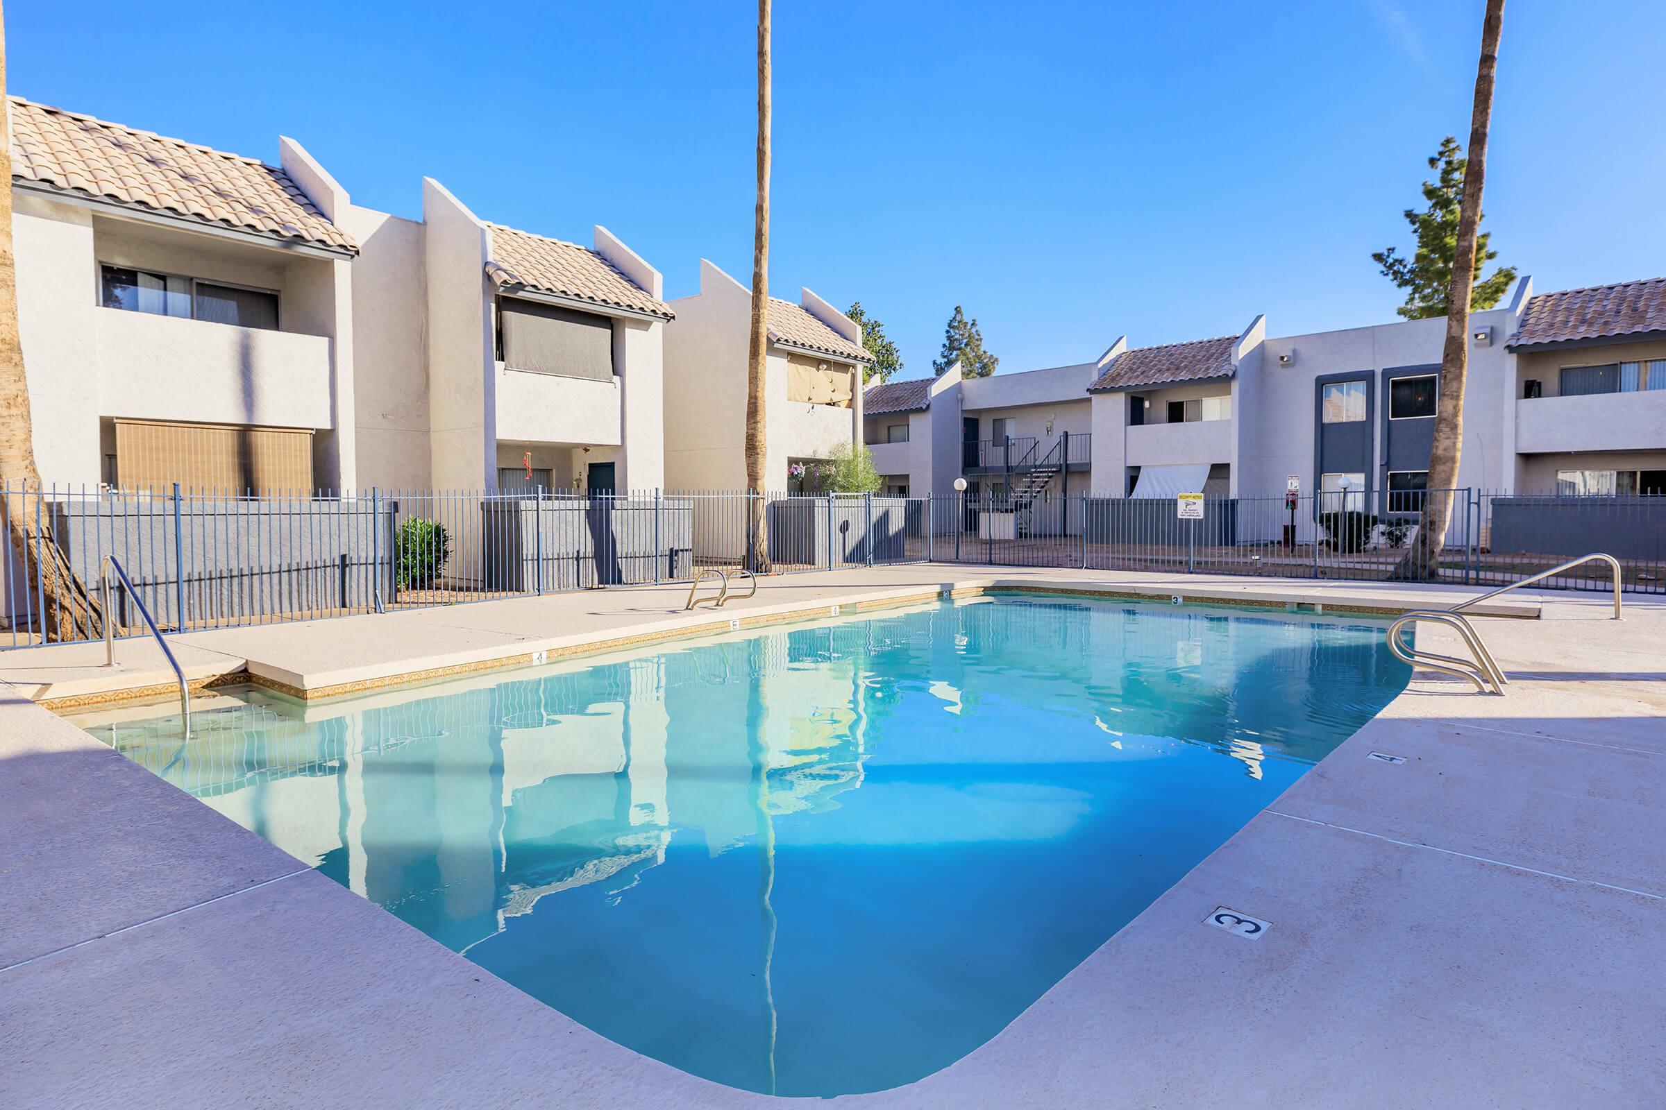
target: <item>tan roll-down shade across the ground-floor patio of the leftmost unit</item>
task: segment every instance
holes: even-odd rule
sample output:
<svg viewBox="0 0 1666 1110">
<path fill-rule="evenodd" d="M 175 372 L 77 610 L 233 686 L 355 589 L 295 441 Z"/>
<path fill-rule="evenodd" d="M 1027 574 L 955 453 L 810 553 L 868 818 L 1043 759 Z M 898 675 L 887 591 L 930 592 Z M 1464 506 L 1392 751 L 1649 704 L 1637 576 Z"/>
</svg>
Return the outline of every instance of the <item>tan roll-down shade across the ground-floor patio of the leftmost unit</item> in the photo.
<svg viewBox="0 0 1666 1110">
<path fill-rule="evenodd" d="M 313 491 L 310 428 L 115 421 L 122 489 L 203 493 Z"/>
</svg>

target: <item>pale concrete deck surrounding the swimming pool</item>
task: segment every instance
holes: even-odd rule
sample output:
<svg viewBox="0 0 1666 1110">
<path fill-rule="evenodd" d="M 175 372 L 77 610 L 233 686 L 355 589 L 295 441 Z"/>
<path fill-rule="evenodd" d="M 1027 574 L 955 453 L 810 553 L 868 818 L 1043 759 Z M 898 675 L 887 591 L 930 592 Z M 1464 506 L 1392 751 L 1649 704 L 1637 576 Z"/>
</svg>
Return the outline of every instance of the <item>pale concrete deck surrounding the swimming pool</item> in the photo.
<svg viewBox="0 0 1666 1110">
<path fill-rule="evenodd" d="M 913 566 L 766 579 L 695 621 L 726 631 L 991 582 L 1383 609 L 1476 592 Z M 178 641 L 205 672 L 263 666 L 325 691 L 436 659 L 510 666 L 700 627 L 670 612 L 686 587 L 661 594 Z M 1519 604 L 1513 616 L 1539 619 L 1479 622 L 1508 696 L 1419 672 L 998 1037 L 918 1083 L 840 1102 L 1666 1105 L 1666 599 L 1628 597 L 1618 624 L 1599 594 Z M 90 647 L 0 656 L 13 691 L 0 704 L 0 1105 L 780 1102 L 590 1033 L 27 701 L 155 677 L 140 641 L 118 646 L 118 682 L 92 674 L 103 647 Z M 1216 907 L 1269 927 L 1205 925 Z"/>
</svg>

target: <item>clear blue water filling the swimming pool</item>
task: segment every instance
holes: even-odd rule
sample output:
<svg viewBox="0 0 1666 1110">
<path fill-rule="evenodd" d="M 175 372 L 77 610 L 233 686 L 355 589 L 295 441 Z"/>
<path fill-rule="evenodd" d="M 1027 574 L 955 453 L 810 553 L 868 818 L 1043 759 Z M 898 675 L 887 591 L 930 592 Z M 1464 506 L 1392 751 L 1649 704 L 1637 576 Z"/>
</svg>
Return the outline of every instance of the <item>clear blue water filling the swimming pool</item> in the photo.
<svg viewBox="0 0 1666 1110">
<path fill-rule="evenodd" d="M 630 1048 L 966 1055 L 1408 677 L 1381 626 L 1018 597 L 93 731 Z"/>
</svg>

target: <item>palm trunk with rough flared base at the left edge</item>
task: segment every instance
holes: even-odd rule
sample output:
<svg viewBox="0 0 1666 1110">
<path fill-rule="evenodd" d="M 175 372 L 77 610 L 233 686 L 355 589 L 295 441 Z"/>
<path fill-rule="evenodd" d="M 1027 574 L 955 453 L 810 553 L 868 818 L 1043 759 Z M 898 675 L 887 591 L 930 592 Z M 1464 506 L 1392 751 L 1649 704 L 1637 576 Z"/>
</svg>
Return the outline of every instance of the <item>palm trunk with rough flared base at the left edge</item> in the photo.
<svg viewBox="0 0 1666 1110">
<path fill-rule="evenodd" d="M 47 641 L 93 639 L 100 634 L 97 602 L 70 567 L 52 531 L 50 508 L 40 499 L 35 466 L 35 428 L 23 376 L 23 339 L 17 325 L 17 261 L 12 256 L 12 115 L 5 100 L 5 13 L 0 10 L 0 488 L 7 533 L 17 559 L 7 577 L 13 604 L 33 611 L 38 602 Z M 20 614 L 13 614 L 13 622 Z"/>
</svg>

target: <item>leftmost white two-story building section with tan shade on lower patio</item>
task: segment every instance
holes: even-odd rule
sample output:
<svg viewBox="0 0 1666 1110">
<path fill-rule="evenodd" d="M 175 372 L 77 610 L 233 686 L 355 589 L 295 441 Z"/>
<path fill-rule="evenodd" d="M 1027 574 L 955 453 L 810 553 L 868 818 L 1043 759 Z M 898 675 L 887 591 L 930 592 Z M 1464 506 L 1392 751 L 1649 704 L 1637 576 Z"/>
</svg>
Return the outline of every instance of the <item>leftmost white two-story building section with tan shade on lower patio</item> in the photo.
<svg viewBox="0 0 1666 1110">
<path fill-rule="evenodd" d="M 337 188 L 10 100 L 18 325 L 47 483 L 357 484 L 352 266 Z"/>
</svg>

